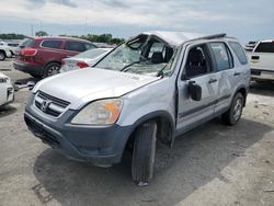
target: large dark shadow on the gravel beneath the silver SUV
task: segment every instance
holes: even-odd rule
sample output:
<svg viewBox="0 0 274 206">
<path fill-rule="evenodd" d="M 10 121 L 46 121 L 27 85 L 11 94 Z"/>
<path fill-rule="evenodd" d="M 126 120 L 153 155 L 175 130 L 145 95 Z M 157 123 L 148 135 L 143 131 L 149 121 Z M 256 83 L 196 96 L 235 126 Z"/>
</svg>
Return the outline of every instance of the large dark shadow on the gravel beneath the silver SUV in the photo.
<svg viewBox="0 0 274 206">
<path fill-rule="evenodd" d="M 43 204 L 175 205 L 214 179 L 229 182 L 221 170 L 263 138 L 271 127 L 242 119 L 228 127 L 215 119 L 179 138 L 173 149 L 158 148 L 156 178 L 148 187 L 130 180 L 128 159 L 110 169 L 70 161 L 53 149 L 36 159 L 32 187 Z"/>
</svg>

